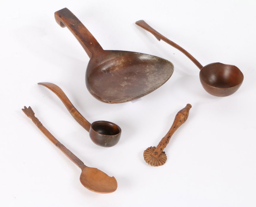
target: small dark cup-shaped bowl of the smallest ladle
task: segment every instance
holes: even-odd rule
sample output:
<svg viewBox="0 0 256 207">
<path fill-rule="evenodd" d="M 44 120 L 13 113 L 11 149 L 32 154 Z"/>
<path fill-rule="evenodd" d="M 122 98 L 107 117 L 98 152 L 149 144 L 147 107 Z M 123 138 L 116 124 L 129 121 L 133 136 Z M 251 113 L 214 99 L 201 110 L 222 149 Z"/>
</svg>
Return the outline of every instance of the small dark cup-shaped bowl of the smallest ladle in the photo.
<svg viewBox="0 0 256 207">
<path fill-rule="evenodd" d="M 120 140 L 121 128 L 112 122 L 96 121 L 91 124 L 89 135 L 96 145 L 112 147 Z"/>
</svg>

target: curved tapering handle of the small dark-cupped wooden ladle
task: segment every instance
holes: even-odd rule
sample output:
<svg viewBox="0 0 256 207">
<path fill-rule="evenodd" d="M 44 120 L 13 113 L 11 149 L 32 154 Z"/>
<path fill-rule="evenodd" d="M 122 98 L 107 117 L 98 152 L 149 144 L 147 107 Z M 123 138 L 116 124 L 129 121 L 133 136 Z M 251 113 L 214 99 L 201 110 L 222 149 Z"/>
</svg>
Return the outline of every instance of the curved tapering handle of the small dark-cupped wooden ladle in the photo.
<svg viewBox="0 0 256 207">
<path fill-rule="evenodd" d="M 82 114 L 79 113 L 79 111 L 77 111 L 77 109 L 74 107 L 74 105 L 71 103 L 71 101 L 69 101 L 69 98 L 66 96 L 66 94 L 63 92 L 63 90 L 61 90 L 60 87 L 58 87 L 58 85 L 55 85 L 53 83 L 37 83 L 38 85 L 43 85 L 46 88 L 50 89 L 51 91 L 53 91 L 53 93 L 55 93 L 62 101 L 62 103 L 66 106 L 66 108 L 68 109 L 69 113 L 72 115 L 72 117 L 74 117 L 74 119 L 82 126 L 84 127 L 85 130 L 87 130 L 89 132 L 90 130 L 90 122 L 88 122 L 85 117 L 82 116 Z"/>
</svg>

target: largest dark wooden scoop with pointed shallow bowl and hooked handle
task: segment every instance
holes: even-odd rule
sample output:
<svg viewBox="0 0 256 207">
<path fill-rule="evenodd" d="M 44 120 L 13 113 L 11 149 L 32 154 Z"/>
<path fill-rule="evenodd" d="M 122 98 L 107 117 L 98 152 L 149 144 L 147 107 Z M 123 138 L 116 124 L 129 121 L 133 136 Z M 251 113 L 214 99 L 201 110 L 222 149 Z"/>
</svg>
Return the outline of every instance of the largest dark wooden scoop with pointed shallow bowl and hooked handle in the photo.
<svg viewBox="0 0 256 207">
<path fill-rule="evenodd" d="M 55 20 L 71 31 L 90 57 L 85 83 L 89 92 L 100 101 L 113 104 L 139 98 L 163 85 L 173 73 L 173 64 L 160 57 L 103 50 L 67 8 L 55 12 Z"/>
</svg>

